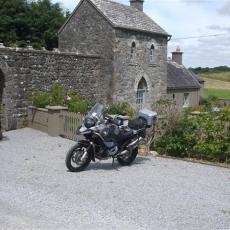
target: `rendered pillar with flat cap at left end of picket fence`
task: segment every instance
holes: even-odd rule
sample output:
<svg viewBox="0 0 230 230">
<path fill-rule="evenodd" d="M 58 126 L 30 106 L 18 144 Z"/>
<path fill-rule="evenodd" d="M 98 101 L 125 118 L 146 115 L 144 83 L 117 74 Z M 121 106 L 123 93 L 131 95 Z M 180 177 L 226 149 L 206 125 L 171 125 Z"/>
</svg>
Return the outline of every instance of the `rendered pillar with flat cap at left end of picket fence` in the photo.
<svg viewBox="0 0 230 230">
<path fill-rule="evenodd" d="M 60 114 L 61 111 L 67 110 L 63 106 L 47 106 L 48 109 L 48 134 L 52 137 L 60 135 Z"/>
</svg>

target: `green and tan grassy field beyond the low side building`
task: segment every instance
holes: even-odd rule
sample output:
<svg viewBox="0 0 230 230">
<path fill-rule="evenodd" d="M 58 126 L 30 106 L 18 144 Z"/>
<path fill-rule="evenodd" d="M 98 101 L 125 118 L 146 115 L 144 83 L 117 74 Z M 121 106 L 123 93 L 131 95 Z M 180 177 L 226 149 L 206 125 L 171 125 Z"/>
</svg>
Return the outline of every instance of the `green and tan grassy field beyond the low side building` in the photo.
<svg viewBox="0 0 230 230">
<path fill-rule="evenodd" d="M 230 72 L 202 73 L 199 76 L 205 80 L 204 97 L 230 99 Z"/>
</svg>

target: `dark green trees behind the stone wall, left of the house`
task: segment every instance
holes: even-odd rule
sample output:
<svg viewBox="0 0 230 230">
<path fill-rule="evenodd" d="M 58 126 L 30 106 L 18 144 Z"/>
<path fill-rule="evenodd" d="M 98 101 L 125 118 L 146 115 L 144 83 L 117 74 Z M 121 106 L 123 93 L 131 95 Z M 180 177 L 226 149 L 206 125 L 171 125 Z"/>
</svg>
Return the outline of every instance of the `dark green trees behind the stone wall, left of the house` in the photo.
<svg viewBox="0 0 230 230">
<path fill-rule="evenodd" d="M 51 0 L 0 0 L 0 42 L 52 50 L 68 16 L 69 12 Z"/>
</svg>

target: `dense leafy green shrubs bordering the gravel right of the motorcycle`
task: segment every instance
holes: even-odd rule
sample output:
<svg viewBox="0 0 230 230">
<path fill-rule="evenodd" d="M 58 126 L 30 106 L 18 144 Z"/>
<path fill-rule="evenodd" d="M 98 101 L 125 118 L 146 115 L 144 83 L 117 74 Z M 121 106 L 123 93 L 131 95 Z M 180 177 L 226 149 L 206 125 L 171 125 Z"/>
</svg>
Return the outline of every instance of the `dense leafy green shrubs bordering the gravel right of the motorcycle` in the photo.
<svg viewBox="0 0 230 230">
<path fill-rule="evenodd" d="M 160 154 L 228 162 L 230 109 L 190 116 L 185 113 L 172 134 L 157 139 Z"/>
</svg>

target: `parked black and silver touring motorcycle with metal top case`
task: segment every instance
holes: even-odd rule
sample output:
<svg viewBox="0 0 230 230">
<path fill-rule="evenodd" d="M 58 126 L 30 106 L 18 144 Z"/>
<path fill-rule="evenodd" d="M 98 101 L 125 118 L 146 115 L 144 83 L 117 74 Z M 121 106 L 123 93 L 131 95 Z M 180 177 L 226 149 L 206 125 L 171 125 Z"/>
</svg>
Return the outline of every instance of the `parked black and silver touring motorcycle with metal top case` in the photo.
<svg viewBox="0 0 230 230">
<path fill-rule="evenodd" d="M 138 154 L 138 146 L 146 136 L 147 128 L 155 124 L 157 113 L 140 110 L 136 119 L 127 120 L 105 115 L 105 107 L 97 103 L 87 114 L 77 134 L 83 135 L 66 155 L 66 167 L 71 172 L 86 169 L 90 162 L 117 159 L 120 165 L 133 163 Z"/>
</svg>

